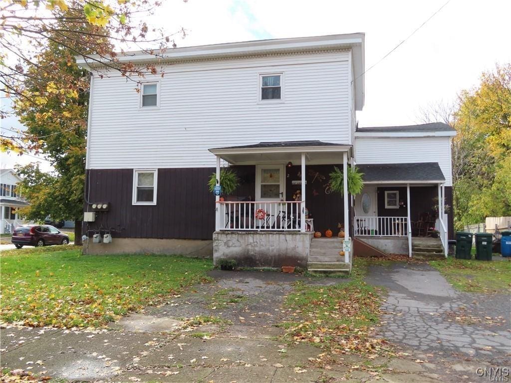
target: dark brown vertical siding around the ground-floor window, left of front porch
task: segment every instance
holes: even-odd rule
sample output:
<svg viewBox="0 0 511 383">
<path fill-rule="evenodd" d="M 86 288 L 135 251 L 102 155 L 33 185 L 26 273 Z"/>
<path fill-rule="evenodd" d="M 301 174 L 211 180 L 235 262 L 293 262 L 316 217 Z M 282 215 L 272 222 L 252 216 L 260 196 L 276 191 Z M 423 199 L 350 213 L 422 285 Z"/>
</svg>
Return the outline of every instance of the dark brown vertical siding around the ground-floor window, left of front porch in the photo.
<svg viewBox="0 0 511 383">
<path fill-rule="evenodd" d="M 110 209 L 84 226 L 89 235 L 112 229 L 115 237 L 210 240 L 215 197 L 207 181 L 214 172 L 210 167 L 158 169 L 156 205 L 133 205 L 133 169 L 88 170 L 88 201 L 109 202 Z"/>
</svg>

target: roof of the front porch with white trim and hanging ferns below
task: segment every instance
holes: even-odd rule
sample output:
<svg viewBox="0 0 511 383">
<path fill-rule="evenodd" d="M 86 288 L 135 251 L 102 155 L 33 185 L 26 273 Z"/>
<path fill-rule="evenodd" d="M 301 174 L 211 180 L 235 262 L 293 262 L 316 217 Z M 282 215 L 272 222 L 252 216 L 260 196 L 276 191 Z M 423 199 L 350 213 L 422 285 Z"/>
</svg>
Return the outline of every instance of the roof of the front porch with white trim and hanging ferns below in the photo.
<svg viewBox="0 0 511 383">
<path fill-rule="evenodd" d="M 225 161 L 234 164 L 300 162 L 301 153 L 306 154 L 309 164 L 342 163 L 342 155 L 351 145 L 323 141 L 275 141 L 251 145 L 210 149 Z"/>
</svg>

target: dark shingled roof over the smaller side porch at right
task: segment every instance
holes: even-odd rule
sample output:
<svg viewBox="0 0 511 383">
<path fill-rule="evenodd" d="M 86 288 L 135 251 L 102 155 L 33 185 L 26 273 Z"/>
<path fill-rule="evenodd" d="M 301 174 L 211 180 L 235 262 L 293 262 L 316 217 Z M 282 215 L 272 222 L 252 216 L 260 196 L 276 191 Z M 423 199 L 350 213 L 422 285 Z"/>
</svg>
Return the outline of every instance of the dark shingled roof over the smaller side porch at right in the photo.
<svg viewBox="0 0 511 383">
<path fill-rule="evenodd" d="M 357 164 L 364 183 L 444 183 L 438 162 Z"/>
</svg>

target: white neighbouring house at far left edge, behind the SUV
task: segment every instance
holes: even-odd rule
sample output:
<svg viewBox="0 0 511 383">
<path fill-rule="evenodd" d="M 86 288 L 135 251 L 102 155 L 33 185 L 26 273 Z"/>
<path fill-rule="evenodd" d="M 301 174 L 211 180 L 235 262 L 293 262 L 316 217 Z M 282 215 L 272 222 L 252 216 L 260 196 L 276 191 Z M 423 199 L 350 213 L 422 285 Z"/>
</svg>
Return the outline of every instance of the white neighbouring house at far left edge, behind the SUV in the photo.
<svg viewBox="0 0 511 383">
<path fill-rule="evenodd" d="M 20 181 L 14 170 L 0 170 L 0 234 L 12 233 L 13 228 L 25 223 L 17 213 L 17 209 L 29 205 L 17 191 Z"/>
</svg>

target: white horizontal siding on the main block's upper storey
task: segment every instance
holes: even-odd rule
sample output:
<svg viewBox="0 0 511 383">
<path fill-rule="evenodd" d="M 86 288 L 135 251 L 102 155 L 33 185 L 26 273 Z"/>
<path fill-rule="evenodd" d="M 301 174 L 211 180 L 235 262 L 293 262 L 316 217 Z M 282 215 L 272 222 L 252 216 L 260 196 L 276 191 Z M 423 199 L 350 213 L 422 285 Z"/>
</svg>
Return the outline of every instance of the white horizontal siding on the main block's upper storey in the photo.
<svg viewBox="0 0 511 383">
<path fill-rule="evenodd" d="M 157 110 L 130 107 L 140 94 L 126 79 L 95 78 L 90 169 L 214 167 L 208 149 L 260 141 L 349 143 L 348 52 L 182 63 L 164 71 Z M 266 73 L 283 74 L 285 100 L 259 102 Z"/>
</svg>

